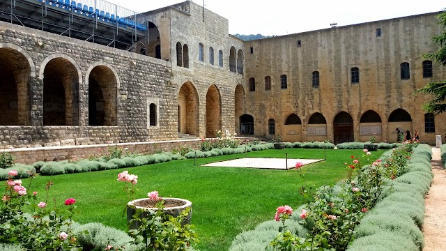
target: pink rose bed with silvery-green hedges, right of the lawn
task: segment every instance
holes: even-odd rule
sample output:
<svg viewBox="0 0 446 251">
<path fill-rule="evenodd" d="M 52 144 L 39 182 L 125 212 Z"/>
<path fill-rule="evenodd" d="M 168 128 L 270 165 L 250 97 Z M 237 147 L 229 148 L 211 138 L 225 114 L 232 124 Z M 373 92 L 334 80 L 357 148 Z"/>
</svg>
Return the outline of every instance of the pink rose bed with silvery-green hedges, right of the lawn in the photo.
<svg viewBox="0 0 446 251">
<path fill-rule="evenodd" d="M 385 161 L 362 167 L 362 175 L 351 184 L 318 188 L 315 199 L 295 210 L 298 213 L 282 214 L 286 216 L 279 217 L 282 224 L 263 222 L 239 234 L 230 250 L 263 250 L 266 246 L 271 250 L 421 250 L 423 195 L 433 177 L 431 149 L 420 145 L 409 160 L 405 153 L 411 150 L 412 144 L 404 144 L 387 151 L 380 158 Z M 355 160 L 353 157 L 347 165 L 351 170 L 360 167 Z M 357 239 L 352 243 L 353 238 Z"/>
</svg>

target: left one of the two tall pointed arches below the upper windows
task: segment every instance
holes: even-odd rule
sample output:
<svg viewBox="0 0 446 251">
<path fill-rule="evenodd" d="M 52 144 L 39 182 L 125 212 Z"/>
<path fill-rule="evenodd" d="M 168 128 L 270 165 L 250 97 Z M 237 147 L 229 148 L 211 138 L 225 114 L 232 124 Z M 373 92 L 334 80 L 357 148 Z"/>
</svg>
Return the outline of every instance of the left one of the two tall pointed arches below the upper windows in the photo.
<svg viewBox="0 0 446 251">
<path fill-rule="evenodd" d="M 185 82 L 178 92 L 180 133 L 199 135 L 199 97 L 191 82 Z"/>
</svg>

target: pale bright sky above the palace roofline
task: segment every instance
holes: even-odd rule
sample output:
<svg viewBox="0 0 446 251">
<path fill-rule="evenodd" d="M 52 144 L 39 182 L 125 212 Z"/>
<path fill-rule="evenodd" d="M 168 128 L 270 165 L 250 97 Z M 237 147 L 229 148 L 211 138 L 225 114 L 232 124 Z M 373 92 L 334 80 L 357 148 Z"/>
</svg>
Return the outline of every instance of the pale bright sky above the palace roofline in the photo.
<svg viewBox="0 0 446 251">
<path fill-rule="evenodd" d="M 139 13 L 162 8 L 184 0 L 109 0 Z M 203 1 L 194 1 L 203 5 Z M 440 0 L 374 1 L 247 1 L 205 0 L 206 8 L 229 20 L 229 33 L 285 35 L 302 31 L 358 24 L 394 17 L 431 13 L 446 8 Z"/>
</svg>

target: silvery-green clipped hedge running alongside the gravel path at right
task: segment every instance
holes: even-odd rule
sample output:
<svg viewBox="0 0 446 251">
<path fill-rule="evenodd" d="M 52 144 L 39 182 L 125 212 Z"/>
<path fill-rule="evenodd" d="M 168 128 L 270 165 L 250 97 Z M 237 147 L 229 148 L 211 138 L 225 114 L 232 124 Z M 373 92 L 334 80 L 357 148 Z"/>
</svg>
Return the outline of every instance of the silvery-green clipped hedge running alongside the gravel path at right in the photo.
<svg viewBox="0 0 446 251">
<path fill-rule="evenodd" d="M 348 251 L 422 250 L 424 238 L 420 227 L 424 222 L 424 195 L 433 178 L 431 155 L 426 144 L 413 150 L 406 174 L 396 178 L 387 196 L 362 218 Z"/>
</svg>

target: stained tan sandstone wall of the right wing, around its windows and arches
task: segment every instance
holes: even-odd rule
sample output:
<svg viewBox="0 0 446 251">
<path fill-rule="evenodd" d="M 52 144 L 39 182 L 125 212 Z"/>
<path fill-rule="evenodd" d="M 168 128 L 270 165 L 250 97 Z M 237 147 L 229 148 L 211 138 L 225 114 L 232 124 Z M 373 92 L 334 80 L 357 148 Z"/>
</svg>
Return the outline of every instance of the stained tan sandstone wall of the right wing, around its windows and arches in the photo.
<svg viewBox="0 0 446 251">
<path fill-rule="evenodd" d="M 420 109 L 428 96 L 412 96 L 413 91 L 431 81 L 446 78 L 446 68 L 433 63 L 433 77 L 424 78 L 422 54 L 438 47 L 431 37 L 442 31 L 431 13 L 296 33 L 248 41 L 245 90 L 247 113 L 254 116 L 254 133 L 268 135 L 268 119 L 275 119 L 276 133 L 282 135 L 290 114 L 302 120 L 302 140 L 316 138 L 333 141 L 333 121 L 339 112 L 353 119 L 354 139 L 360 140 L 360 118 L 374 110 L 382 120 L 382 136 L 394 142 L 394 125 L 388 124 L 392 111 L 401 108 L 412 118 L 408 130 L 420 130 L 422 142 L 433 144 L 435 135 L 446 132 L 445 114 L 435 117 L 435 133 L 424 132 L 424 112 Z M 381 29 L 381 36 L 376 36 Z M 300 43 L 300 45 L 298 45 Z M 249 49 L 247 49 L 249 50 Z M 400 64 L 410 64 L 410 79 L 401 79 Z M 360 69 L 360 82 L 351 84 L 351 68 Z M 312 73 L 320 74 L 320 86 L 312 87 Z M 288 88 L 281 89 L 280 75 L 287 75 Z M 265 91 L 264 78 L 271 77 L 272 89 Z M 249 92 L 248 79 L 256 79 L 256 91 Z M 327 133 L 307 135 L 309 117 L 320 112 L 327 121 Z M 406 128 L 403 128 L 407 130 Z M 274 135 L 271 135 L 274 137 Z"/>
</svg>

